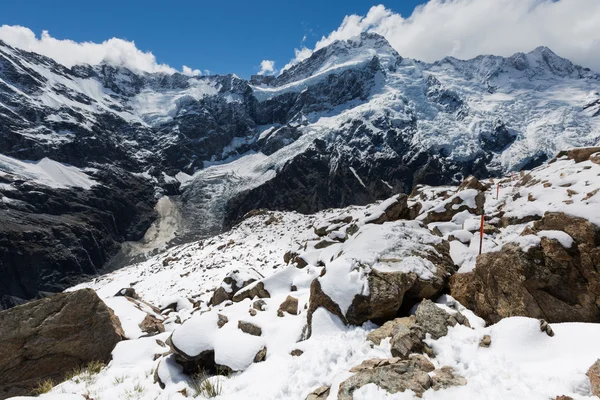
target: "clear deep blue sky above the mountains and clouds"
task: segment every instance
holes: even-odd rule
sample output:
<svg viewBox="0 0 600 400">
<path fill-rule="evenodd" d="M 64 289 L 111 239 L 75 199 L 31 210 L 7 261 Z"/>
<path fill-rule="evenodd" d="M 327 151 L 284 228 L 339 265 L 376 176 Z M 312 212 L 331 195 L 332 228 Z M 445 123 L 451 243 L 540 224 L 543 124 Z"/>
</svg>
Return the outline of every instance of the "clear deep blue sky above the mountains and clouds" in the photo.
<svg viewBox="0 0 600 400">
<path fill-rule="evenodd" d="M 312 48 L 350 14 L 365 15 L 373 5 L 409 16 L 423 1 L 395 0 L 221 0 L 128 1 L 30 0 L 3 2 L 0 25 L 22 25 L 36 35 L 102 42 L 134 41 L 159 63 L 187 65 L 211 73 L 249 77 L 263 59 L 281 68 L 294 48 Z M 306 36 L 306 42 L 302 39 Z"/>
</svg>

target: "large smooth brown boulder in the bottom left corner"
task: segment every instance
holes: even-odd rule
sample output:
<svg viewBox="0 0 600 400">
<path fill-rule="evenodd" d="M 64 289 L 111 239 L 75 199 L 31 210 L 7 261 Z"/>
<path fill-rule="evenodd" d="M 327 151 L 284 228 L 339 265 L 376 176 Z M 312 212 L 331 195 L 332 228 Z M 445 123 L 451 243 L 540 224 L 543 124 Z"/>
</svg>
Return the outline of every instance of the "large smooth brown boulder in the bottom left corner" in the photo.
<svg viewBox="0 0 600 400">
<path fill-rule="evenodd" d="M 91 361 L 107 363 L 125 336 L 91 289 L 60 293 L 0 311 L 0 398 L 25 395 Z"/>
</svg>

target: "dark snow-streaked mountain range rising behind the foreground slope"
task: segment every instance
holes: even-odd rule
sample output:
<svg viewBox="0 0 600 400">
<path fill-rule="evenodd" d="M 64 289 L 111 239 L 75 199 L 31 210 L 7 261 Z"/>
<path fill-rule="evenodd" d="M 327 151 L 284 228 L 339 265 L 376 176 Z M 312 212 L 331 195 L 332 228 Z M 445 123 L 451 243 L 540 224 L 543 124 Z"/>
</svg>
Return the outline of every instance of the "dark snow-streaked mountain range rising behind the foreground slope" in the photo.
<svg viewBox="0 0 600 400">
<path fill-rule="evenodd" d="M 95 273 L 118 243 L 141 239 L 164 194 L 185 240 L 256 208 L 315 212 L 418 183 L 533 167 L 558 150 L 600 143 L 599 90 L 598 74 L 547 48 L 428 64 L 403 58 L 376 34 L 332 43 L 277 77 L 250 81 L 66 68 L 0 43 L 0 154 L 8 160 L 0 162 L 0 213 L 15 221 L 0 226 L 0 270 L 16 281 L 0 295 L 31 298 L 64 286 L 65 260 L 77 266 L 75 276 Z M 44 158 L 97 184 L 56 189 L 7 170 L 15 160 Z M 119 196 L 135 218 L 115 229 L 103 213 L 123 212 Z M 64 205 L 47 207 L 57 202 Z M 23 257 L 24 217 L 42 246 L 60 239 L 46 213 L 75 236 L 70 220 L 79 215 L 82 229 L 88 224 L 110 245 L 69 241 L 61 259 L 44 251 L 35 261 Z"/>
</svg>

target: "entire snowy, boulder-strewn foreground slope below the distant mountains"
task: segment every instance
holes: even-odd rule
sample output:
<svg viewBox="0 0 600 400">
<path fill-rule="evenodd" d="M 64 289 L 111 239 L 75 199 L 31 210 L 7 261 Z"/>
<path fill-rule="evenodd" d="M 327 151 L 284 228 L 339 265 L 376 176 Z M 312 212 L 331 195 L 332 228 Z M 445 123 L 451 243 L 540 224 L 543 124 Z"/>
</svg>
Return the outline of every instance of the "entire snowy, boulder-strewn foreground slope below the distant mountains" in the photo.
<svg viewBox="0 0 600 400">
<path fill-rule="evenodd" d="M 40 316 L 3 346 L 0 397 L 24 371 L 54 379 L 47 400 L 597 398 L 599 266 L 600 148 L 367 206 L 255 210 L 0 312 L 5 337 L 31 307 L 80 293 L 97 304 L 91 288 L 112 310 L 95 330 L 125 339 L 95 357 L 106 366 L 69 373 L 89 361 L 86 331 Z M 74 329 L 68 363 L 60 346 L 39 358 L 29 344 Z"/>
</svg>

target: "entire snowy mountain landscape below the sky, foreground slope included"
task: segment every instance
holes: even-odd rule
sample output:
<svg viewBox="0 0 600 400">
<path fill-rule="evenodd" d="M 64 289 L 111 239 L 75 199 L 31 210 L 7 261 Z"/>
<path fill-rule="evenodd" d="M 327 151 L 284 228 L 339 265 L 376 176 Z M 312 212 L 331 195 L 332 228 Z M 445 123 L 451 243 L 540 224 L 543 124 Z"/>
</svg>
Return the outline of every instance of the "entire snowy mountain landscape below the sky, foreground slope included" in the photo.
<svg viewBox="0 0 600 400">
<path fill-rule="evenodd" d="M 546 47 L 247 81 L 0 42 L 0 398 L 596 398 L 597 146 Z"/>
</svg>

